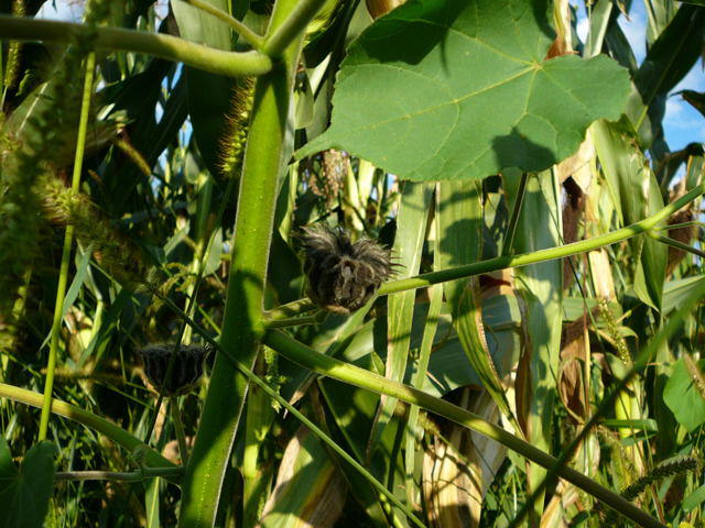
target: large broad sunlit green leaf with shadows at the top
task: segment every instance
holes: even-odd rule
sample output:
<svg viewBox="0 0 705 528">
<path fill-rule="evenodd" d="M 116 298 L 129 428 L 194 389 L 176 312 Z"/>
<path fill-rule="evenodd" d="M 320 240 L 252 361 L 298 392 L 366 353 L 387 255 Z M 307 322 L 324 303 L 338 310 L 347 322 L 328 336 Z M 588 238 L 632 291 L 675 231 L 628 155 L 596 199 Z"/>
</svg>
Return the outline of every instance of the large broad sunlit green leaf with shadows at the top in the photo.
<svg viewBox="0 0 705 528">
<path fill-rule="evenodd" d="M 330 128 L 299 156 L 337 147 L 414 180 L 542 170 L 596 119 L 619 118 L 625 69 L 606 56 L 545 59 L 544 0 L 412 0 L 350 46 Z"/>
</svg>

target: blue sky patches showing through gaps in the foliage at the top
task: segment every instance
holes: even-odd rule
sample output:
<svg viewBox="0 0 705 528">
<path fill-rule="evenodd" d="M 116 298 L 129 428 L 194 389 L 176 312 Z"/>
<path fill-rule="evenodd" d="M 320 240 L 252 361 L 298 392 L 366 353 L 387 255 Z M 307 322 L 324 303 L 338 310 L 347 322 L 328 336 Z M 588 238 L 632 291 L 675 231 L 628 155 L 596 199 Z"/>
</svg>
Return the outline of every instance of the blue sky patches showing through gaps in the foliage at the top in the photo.
<svg viewBox="0 0 705 528">
<path fill-rule="evenodd" d="M 165 13 L 166 3 L 166 0 L 158 2 L 162 13 Z M 584 40 L 587 34 L 584 2 L 573 3 L 579 7 L 577 30 L 581 38 Z M 77 7 L 77 2 L 67 2 L 66 0 L 57 0 L 56 9 L 52 7 L 52 2 L 46 2 L 42 8 L 42 12 L 45 18 L 51 19 L 77 20 L 80 16 L 80 9 Z M 637 61 L 641 63 L 647 53 L 647 13 L 643 2 L 633 0 L 629 20 L 620 15 L 619 24 L 634 51 Z M 672 90 L 672 94 L 686 89 L 705 92 L 705 72 L 703 70 L 702 61 L 695 64 L 688 75 Z M 666 141 L 672 151 L 683 148 L 692 142 L 705 143 L 705 118 L 684 101 L 681 96 L 672 95 L 669 97 L 663 127 Z"/>
</svg>

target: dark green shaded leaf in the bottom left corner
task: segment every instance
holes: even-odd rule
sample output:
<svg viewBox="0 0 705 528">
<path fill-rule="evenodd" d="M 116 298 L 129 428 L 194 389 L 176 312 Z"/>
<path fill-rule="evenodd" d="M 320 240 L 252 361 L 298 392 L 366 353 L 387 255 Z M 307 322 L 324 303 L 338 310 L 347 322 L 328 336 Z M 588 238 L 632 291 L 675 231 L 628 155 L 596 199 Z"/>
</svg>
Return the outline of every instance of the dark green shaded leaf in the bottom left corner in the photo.
<svg viewBox="0 0 705 528">
<path fill-rule="evenodd" d="M 18 469 L 4 438 L 0 437 L 0 526 L 41 528 L 54 485 L 56 446 L 40 442 Z"/>
</svg>

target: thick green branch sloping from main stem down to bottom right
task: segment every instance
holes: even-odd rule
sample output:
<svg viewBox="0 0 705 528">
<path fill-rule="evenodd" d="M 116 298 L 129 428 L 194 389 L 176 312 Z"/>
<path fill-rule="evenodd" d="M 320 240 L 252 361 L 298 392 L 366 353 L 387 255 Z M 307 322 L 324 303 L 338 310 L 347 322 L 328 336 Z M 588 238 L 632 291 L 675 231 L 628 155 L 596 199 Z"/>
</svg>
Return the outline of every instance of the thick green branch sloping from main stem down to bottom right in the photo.
<svg viewBox="0 0 705 528">
<path fill-rule="evenodd" d="M 465 410 L 449 402 L 436 398 L 417 388 L 402 385 L 378 374 L 317 353 L 305 344 L 299 343 L 279 330 L 270 330 L 263 342 L 294 363 L 313 370 L 328 377 L 355 385 L 376 394 L 386 394 L 408 404 L 417 405 L 438 416 L 477 431 L 518 452 L 522 457 L 546 469 L 554 469 L 555 474 L 589 493 L 621 515 L 646 528 L 664 528 L 664 525 L 626 501 L 615 492 L 603 487 L 586 475 L 572 468 L 556 468 L 556 459 L 534 446 L 507 432 L 499 426 L 490 424 L 479 416 Z"/>
</svg>

